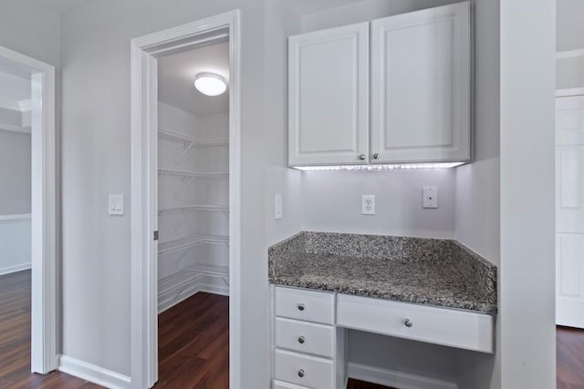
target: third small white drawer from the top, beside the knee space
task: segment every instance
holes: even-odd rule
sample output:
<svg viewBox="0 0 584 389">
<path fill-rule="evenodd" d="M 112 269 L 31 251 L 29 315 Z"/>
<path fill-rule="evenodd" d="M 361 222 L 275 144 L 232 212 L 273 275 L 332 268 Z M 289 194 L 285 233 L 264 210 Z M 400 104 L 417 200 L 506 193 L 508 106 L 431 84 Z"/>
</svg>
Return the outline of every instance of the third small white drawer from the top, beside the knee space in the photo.
<svg viewBox="0 0 584 389">
<path fill-rule="evenodd" d="M 332 389 L 333 363 L 329 359 L 276 350 L 274 378 L 315 389 Z"/>
</svg>

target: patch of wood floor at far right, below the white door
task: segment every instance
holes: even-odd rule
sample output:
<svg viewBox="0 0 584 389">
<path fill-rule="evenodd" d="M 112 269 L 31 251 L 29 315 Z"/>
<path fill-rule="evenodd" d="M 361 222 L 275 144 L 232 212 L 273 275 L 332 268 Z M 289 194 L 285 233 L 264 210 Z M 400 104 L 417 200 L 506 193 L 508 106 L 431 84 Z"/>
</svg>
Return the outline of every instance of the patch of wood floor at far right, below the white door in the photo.
<svg viewBox="0 0 584 389">
<path fill-rule="evenodd" d="M 556 336 L 558 389 L 584 389 L 584 330 L 559 327 Z"/>
</svg>

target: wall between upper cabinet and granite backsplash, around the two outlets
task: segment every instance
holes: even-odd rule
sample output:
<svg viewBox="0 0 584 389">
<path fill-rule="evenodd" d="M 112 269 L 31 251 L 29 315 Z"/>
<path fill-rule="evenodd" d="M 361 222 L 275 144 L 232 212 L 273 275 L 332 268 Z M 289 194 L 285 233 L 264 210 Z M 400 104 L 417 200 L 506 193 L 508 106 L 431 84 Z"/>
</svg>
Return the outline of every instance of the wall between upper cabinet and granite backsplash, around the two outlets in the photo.
<svg viewBox="0 0 584 389">
<path fill-rule="evenodd" d="M 454 169 L 303 172 L 303 229 L 453 238 Z M 438 188 L 438 209 L 422 208 L 422 187 Z M 375 195 L 375 215 L 361 215 Z"/>
</svg>

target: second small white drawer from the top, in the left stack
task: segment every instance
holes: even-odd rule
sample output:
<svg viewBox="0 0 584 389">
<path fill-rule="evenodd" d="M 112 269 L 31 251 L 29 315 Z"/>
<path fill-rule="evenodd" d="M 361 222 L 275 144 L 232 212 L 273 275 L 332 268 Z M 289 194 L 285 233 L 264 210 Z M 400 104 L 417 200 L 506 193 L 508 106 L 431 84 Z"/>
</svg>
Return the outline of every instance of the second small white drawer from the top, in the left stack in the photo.
<svg viewBox="0 0 584 389">
<path fill-rule="evenodd" d="M 332 358 L 335 329 L 329 325 L 276 318 L 276 347 Z"/>
</svg>

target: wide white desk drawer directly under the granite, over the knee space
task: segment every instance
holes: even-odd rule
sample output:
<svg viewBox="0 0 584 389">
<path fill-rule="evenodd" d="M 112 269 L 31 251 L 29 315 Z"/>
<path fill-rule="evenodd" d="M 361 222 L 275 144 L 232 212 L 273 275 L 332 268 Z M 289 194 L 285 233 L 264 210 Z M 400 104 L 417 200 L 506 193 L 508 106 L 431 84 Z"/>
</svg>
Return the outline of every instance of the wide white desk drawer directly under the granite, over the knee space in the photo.
<svg viewBox="0 0 584 389">
<path fill-rule="evenodd" d="M 338 294 L 337 325 L 493 353 L 493 317 L 482 313 Z"/>
</svg>

